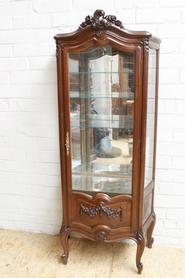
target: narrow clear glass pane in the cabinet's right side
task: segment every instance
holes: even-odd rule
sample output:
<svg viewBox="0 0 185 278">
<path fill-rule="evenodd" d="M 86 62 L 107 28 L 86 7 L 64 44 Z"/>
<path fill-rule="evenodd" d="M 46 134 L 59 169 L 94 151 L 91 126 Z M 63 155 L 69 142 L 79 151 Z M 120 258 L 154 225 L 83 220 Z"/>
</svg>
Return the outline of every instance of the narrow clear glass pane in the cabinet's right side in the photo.
<svg viewBox="0 0 185 278">
<path fill-rule="evenodd" d="M 153 178 L 154 160 L 154 124 L 155 124 L 155 89 L 156 89 L 156 50 L 149 51 L 148 99 L 146 121 L 145 179 L 146 187 Z"/>
</svg>

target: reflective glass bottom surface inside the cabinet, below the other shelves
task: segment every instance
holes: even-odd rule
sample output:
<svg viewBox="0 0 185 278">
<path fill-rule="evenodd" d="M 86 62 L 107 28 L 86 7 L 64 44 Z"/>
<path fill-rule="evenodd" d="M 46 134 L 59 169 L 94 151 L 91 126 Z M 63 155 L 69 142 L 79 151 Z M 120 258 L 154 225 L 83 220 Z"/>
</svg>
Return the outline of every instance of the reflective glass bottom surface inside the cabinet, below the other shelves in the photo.
<svg viewBox="0 0 185 278">
<path fill-rule="evenodd" d="M 73 168 L 74 190 L 131 194 L 131 165 L 87 163 Z"/>
</svg>

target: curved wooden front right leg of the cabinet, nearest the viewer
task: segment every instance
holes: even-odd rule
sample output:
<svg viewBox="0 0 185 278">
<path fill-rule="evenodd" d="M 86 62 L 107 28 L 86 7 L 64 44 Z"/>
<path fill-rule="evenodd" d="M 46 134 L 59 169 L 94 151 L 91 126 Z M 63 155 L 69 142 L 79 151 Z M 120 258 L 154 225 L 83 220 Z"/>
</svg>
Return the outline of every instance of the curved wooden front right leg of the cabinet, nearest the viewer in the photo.
<svg viewBox="0 0 185 278">
<path fill-rule="evenodd" d="M 143 270 L 141 257 L 145 248 L 145 238 L 142 233 L 137 234 L 136 241 L 137 241 L 136 266 L 138 269 L 138 273 L 141 274 Z"/>
</svg>

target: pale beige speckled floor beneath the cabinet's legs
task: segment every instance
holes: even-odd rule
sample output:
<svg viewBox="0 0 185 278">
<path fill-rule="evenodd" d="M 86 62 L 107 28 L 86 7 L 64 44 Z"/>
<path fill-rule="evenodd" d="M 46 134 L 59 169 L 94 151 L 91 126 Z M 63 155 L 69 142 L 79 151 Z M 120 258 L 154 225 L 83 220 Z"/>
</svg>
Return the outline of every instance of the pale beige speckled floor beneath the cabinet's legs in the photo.
<svg viewBox="0 0 185 278">
<path fill-rule="evenodd" d="M 143 274 L 135 267 L 135 245 L 70 239 L 67 265 L 58 236 L 0 230 L 0 278 L 184 278 L 185 249 L 145 248 Z"/>
</svg>

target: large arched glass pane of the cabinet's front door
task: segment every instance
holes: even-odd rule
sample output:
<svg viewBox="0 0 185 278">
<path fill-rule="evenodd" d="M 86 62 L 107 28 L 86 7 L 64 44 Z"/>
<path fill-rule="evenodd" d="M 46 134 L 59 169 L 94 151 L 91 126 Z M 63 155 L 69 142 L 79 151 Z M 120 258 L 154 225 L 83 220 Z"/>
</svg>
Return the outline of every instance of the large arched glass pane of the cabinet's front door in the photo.
<svg viewBox="0 0 185 278">
<path fill-rule="evenodd" d="M 109 46 L 69 54 L 73 190 L 132 192 L 133 59 Z"/>
</svg>

